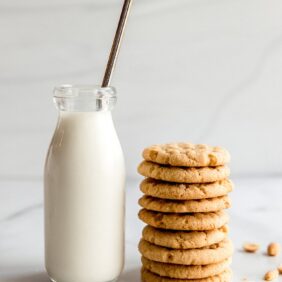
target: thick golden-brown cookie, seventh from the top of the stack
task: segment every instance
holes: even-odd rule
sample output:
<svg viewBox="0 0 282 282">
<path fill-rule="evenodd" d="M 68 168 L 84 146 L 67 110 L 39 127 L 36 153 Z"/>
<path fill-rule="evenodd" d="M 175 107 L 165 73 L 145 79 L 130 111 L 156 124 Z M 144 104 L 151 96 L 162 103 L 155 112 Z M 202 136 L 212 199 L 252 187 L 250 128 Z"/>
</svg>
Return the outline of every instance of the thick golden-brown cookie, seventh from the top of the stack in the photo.
<svg viewBox="0 0 282 282">
<path fill-rule="evenodd" d="M 139 242 L 139 252 L 147 259 L 181 265 L 206 265 L 221 262 L 232 256 L 233 246 L 229 239 L 200 249 L 170 249 L 151 244 L 144 239 Z"/>
</svg>

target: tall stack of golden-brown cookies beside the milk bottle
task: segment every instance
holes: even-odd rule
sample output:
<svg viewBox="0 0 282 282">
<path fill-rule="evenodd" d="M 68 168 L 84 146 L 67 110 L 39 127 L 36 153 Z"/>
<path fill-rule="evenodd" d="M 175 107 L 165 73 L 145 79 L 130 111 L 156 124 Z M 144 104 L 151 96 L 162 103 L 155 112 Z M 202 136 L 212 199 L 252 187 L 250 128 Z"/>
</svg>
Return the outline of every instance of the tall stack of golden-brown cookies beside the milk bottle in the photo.
<svg viewBox="0 0 282 282">
<path fill-rule="evenodd" d="M 143 151 L 139 204 L 143 282 L 231 281 L 229 153 L 188 143 Z"/>
</svg>

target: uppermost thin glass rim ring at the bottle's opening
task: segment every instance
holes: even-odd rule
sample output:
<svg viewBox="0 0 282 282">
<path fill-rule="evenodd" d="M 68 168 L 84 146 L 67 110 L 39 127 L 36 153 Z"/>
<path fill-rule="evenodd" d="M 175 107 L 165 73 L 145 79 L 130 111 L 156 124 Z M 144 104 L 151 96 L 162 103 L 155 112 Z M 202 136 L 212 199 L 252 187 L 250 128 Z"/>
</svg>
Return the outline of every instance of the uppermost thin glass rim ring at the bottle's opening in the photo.
<svg viewBox="0 0 282 282">
<path fill-rule="evenodd" d="M 101 98 L 101 96 L 113 98 L 116 96 L 114 87 L 101 87 L 99 85 L 72 85 L 63 84 L 54 88 L 54 98 L 78 98 L 90 97 Z"/>
</svg>

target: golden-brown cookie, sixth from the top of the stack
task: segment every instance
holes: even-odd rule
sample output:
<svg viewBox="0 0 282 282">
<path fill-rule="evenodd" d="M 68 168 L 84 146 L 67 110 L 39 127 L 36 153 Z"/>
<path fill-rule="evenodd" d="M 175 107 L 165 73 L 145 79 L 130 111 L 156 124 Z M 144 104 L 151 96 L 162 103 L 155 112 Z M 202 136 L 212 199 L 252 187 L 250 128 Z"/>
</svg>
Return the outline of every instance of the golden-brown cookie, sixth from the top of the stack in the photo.
<svg viewBox="0 0 282 282">
<path fill-rule="evenodd" d="M 224 240 L 228 235 L 227 226 L 209 231 L 172 231 L 145 226 L 143 239 L 162 247 L 172 249 L 197 249 Z"/>
</svg>

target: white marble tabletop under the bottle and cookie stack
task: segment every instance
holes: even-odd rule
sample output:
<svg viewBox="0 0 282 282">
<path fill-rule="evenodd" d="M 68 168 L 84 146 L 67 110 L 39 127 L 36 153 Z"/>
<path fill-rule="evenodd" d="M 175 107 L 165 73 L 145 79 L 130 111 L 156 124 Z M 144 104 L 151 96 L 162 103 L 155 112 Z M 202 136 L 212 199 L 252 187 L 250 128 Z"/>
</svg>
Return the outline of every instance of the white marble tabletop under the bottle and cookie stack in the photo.
<svg viewBox="0 0 282 282">
<path fill-rule="evenodd" d="M 282 263 L 282 257 L 265 256 L 270 241 L 282 243 L 282 178 L 235 179 L 231 194 L 231 237 L 235 244 L 234 279 L 262 281 L 265 271 Z M 127 185 L 126 265 L 120 282 L 138 282 L 140 256 L 137 242 L 142 228 L 137 219 L 138 181 Z M 0 281 L 47 282 L 43 266 L 42 183 L 0 182 Z M 241 251 L 243 242 L 258 242 L 258 254 Z M 281 280 L 281 278 L 280 278 Z"/>
</svg>

